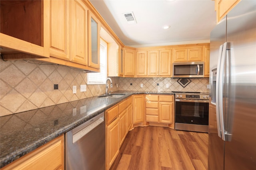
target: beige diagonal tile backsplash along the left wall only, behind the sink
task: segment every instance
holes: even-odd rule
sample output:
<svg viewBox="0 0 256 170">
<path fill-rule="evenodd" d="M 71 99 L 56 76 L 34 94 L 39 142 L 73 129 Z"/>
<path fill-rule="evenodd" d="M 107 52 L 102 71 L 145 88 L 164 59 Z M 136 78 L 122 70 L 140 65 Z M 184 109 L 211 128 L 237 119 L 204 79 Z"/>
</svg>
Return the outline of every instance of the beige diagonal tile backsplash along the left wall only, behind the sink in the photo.
<svg viewBox="0 0 256 170">
<path fill-rule="evenodd" d="M 82 70 L 38 61 L 0 60 L 0 116 L 52 106 L 105 93 L 105 84 L 87 85 Z M 118 77 L 112 77 L 113 86 Z M 58 90 L 54 90 L 58 84 Z M 73 86 L 77 93 L 73 94 Z M 118 90 L 114 86 L 112 91 Z"/>
</svg>

